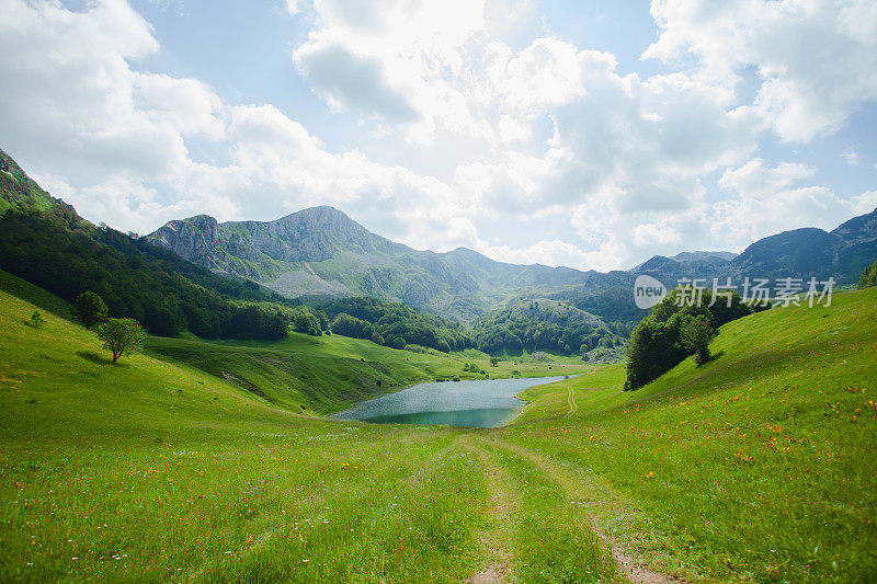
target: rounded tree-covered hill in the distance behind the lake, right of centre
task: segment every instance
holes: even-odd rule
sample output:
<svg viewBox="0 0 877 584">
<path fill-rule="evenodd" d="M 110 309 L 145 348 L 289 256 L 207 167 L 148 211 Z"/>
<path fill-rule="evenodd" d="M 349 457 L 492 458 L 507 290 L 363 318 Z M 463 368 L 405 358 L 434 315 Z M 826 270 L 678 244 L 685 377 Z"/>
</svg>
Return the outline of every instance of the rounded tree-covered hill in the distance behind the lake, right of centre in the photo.
<svg viewBox="0 0 877 584">
<path fill-rule="evenodd" d="M 478 319 L 474 335 L 486 353 L 527 350 L 570 355 L 622 345 L 631 328 L 622 322 L 606 324 L 570 305 L 543 299 L 519 302 Z"/>
</svg>

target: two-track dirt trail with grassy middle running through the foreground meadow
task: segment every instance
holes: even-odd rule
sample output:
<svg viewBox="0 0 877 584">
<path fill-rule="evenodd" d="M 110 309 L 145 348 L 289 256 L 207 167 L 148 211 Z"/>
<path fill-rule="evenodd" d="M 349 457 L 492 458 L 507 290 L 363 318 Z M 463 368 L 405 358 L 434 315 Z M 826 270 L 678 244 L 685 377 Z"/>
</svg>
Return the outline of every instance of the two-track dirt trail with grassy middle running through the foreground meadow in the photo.
<svg viewBox="0 0 877 584">
<path fill-rule="evenodd" d="M 457 446 L 481 465 L 489 494 L 481 562 L 467 582 L 684 582 L 652 570 L 596 527 L 593 514 L 601 506 L 624 514 L 603 488 L 501 435 L 462 434 Z M 544 541 L 560 547 L 546 554 Z"/>
</svg>

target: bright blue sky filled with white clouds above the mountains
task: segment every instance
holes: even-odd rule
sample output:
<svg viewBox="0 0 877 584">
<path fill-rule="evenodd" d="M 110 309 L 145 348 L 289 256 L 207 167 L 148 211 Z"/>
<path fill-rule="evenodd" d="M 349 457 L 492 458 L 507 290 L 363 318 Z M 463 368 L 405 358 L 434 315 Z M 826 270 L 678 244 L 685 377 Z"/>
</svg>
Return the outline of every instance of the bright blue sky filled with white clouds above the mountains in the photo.
<svg viewBox="0 0 877 584">
<path fill-rule="evenodd" d="M 877 207 L 873 0 L 0 0 L 0 148 L 94 222 L 332 205 L 629 268 Z"/>
</svg>

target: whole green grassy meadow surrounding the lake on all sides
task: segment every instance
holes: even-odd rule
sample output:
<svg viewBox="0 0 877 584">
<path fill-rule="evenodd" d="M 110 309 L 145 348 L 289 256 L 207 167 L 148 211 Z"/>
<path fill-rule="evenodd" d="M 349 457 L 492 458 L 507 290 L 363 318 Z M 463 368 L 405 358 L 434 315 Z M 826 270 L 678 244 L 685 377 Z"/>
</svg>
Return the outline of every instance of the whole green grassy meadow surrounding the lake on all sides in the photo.
<svg viewBox="0 0 877 584">
<path fill-rule="evenodd" d="M 0 284 L 2 581 L 877 577 L 877 289 L 729 323 L 710 363 L 623 392 L 620 365 L 339 336 L 111 365 L 64 302 Z M 584 373 L 504 428 L 317 415 L 472 362 Z"/>
</svg>

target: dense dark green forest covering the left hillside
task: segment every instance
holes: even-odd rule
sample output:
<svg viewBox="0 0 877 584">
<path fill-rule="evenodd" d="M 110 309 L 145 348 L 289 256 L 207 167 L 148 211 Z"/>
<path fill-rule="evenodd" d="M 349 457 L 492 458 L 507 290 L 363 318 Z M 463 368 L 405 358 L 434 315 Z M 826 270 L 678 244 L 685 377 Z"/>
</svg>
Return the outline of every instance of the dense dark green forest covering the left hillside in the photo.
<svg viewBox="0 0 877 584">
<path fill-rule="evenodd" d="M 153 334 L 187 329 L 205 339 L 286 335 L 286 319 L 260 286 L 96 228 L 64 204 L 48 210 L 19 205 L 0 216 L 0 268 L 68 301 L 93 290 L 111 317 L 133 318 Z"/>
</svg>

